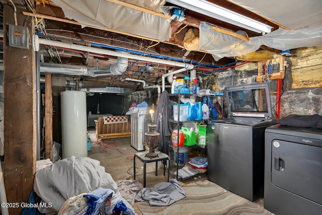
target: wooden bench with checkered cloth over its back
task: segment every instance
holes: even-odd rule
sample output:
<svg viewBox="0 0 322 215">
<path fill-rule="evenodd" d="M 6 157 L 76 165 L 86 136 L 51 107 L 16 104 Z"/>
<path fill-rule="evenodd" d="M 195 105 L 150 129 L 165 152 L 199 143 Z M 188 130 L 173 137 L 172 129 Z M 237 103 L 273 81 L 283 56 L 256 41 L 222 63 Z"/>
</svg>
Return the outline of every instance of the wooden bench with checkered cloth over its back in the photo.
<svg viewBox="0 0 322 215">
<path fill-rule="evenodd" d="M 99 117 L 95 124 L 97 139 L 131 136 L 131 123 L 127 116 Z"/>
</svg>

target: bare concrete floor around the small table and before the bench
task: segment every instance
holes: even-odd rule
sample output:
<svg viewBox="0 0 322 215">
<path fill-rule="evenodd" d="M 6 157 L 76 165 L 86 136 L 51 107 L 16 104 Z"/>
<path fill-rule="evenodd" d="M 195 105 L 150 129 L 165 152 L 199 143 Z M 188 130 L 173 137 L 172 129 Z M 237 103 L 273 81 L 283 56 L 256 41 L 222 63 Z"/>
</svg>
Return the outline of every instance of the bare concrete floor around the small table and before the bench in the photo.
<svg viewBox="0 0 322 215">
<path fill-rule="evenodd" d="M 95 127 L 89 127 L 91 136 L 91 151 L 88 151 L 88 157 L 101 162 L 101 166 L 105 167 L 105 172 L 111 174 L 114 181 L 133 179 L 133 156 L 137 151 L 131 147 L 131 137 L 101 139 L 97 140 Z M 171 156 L 172 157 L 172 156 Z M 173 158 L 172 158 L 173 159 Z M 170 178 L 174 178 L 170 175 Z M 159 182 L 167 181 L 163 175 L 162 162 L 158 163 L 158 174 L 155 176 L 155 163 L 146 164 L 146 187 L 152 187 Z M 202 174 L 184 181 L 180 181 L 182 185 L 206 180 L 207 175 Z M 143 184 L 143 163 L 136 159 L 136 180 Z M 133 208 L 137 214 L 142 214 L 135 202 Z M 263 198 L 257 201 L 263 206 Z"/>
</svg>

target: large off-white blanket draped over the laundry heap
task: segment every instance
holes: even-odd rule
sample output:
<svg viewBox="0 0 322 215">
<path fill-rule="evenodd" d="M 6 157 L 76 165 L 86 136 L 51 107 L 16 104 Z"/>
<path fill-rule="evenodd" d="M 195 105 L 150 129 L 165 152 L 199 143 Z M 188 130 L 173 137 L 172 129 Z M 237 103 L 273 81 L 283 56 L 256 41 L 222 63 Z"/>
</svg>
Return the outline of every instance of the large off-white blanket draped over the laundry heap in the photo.
<svg viewBox="0 0 322 215">
<path fill-rule="evenodd" d="M 34 191 L 56 211 L 66 199 L 99 187 L 111 189 L 122 197 L 112 176 L 105 172 L 99 161 L 91 158 L 71 156 L 35 174 Z M 132 208 L 124 198 L 123 202 Z"/>
</svg>

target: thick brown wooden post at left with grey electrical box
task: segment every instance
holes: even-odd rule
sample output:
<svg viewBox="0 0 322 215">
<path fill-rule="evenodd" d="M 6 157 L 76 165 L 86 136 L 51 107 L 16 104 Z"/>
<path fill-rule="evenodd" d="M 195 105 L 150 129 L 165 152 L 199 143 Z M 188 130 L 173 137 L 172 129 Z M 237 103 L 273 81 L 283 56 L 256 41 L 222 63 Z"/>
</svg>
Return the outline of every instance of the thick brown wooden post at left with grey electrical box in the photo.
<svg viewBox="0 0 322 215">
<path fill-rule="evenodd" d="M 17 23 L 34 33 L 33 19 L 25 19 L 17 8 Z M 8 44 L 9 24 L 15 24 L 14 10 L 4 5 L 4 98 L 5 162 L 4 179 L 8 202 L 27 202 L 36 171 L 36 57 L 29 49 Z M 29 37 L 28 37 L 29 39 Z M 21 205 L 21 204 L 20 204 Z M 23 208 L 9 208 L 10 214 L 21 214 Z"/>
</svg>

